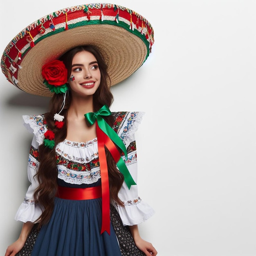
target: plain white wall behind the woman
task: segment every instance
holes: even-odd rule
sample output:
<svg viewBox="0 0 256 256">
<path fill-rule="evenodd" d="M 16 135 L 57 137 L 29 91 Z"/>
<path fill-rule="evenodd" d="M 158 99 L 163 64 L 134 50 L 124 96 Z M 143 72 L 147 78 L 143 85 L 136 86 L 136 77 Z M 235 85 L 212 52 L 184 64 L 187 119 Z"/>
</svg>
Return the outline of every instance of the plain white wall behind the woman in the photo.
<svg viewBox="0 0 256 256">
<path fill-rule="evenodd" d="M 0 51 L 24 27 L 78 0 L 1 1 Z M 116 0 L 146 17 L 152 53 L 112 88 L 111 110 L 145 111 L 136 133 L 139 225 L 159 256 L 256 256 L 256 1 Z M 67 38 L 68 40 L 68 38 Z M 49 99 L 0 76 L 0 255 L 18 238 L 32 135 L 22 115 Z"/>
</svg>

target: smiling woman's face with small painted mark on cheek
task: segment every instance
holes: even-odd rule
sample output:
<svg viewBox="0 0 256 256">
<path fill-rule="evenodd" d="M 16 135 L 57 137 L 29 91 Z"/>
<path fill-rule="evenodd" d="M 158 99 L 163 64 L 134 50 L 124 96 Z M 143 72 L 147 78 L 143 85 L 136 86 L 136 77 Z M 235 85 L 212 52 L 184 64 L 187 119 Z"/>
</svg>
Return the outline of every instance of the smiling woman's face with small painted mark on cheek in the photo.
<svg viewBox="0 0 256 256">
<path fill-rule="evenodd" d="M 101 73 L 96 58 L 90 52 L 78 52 L 72 60 L 68 79 L 73 96 L 90 96 L 99 88 Z"/>
</svg>

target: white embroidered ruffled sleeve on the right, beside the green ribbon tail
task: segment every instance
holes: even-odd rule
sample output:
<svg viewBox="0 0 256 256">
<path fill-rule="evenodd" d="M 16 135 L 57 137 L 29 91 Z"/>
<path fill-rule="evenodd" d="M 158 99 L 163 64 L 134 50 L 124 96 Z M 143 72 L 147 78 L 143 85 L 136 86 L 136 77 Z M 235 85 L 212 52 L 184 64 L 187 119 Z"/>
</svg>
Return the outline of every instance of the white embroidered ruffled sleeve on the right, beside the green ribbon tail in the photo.
<svg viewBox="0 0 256 256">
<path fill-rule="evenodd" d="M 125 157 L 123 157 L 123 159 L 136 184 L 137 151 L 135 131 L 143 115 L 144 112 L 116 112 L 114 114 L 116 121 L 113 128 L 126 145 L 128 159 L 126 160 Z M 116 202 L 112 202 L 112 204 L 119 212 L 124 226 L 132 226 L 144 222 L 155 213 L 153 208 L 139 197 L 137 185 L 132 185 L 130 189 L 128 189 L 128 186 L 124 182 L 118 196 L 121 201 L 124 202 L 124 207 L 121 207 Z"/>
</svg>

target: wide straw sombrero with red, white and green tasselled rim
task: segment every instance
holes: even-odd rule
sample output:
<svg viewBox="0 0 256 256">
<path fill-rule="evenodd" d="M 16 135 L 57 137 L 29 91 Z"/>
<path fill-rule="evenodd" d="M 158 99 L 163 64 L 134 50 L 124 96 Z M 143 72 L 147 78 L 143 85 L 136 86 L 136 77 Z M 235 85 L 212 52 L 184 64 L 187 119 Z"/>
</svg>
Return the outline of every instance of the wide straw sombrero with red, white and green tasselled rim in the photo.
<svg viewBox="0 0 256 256">
<path fill-rule="evenodd" d="M 108 64 L 111 85 L 134 73 L 148 58 L 153 28 L 140 14 L 116 4 L 85 4 L 50 13 L 13 38 L 2 54 L 1 68 L 17 88 L 52 96 L 42 66 L 79 45 L 94 45 Z"/>
</svg>

